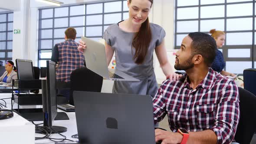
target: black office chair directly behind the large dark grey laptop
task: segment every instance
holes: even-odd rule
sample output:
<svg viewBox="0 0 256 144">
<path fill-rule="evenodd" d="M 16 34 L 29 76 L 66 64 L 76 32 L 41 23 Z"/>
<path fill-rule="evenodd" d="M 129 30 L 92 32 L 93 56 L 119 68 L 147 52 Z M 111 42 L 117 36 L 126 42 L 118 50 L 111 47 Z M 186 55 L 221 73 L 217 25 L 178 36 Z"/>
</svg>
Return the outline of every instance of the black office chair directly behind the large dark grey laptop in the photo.
<svg viewBox="0 0 256 144">
<path fill-rule="evenodd" d="M 83 67 L 70 75 L 69 104 L 74 105 L 73 91 L 101 92 L 103 77 Z"/>
</svg>

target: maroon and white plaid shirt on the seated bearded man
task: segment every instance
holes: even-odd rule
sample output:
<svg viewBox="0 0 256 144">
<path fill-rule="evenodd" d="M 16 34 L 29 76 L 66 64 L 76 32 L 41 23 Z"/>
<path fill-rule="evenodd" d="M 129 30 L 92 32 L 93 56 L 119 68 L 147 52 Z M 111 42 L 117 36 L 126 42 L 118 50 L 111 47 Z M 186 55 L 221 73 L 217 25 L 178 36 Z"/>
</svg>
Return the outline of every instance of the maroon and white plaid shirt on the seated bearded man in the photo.
<svg viewBox="0 0 256 144">
<path fill-rule="evenodd" d="M 209 69 L 193 90 L 187 75 L 179 81 L 167 79 L 153 98 L 154 123 L 168 115 L 169 127 L 187 131 L 210 129 L 218 144 L 230 144 L 239 121 L 239 93 L 236 83 Z"/>
</svg>

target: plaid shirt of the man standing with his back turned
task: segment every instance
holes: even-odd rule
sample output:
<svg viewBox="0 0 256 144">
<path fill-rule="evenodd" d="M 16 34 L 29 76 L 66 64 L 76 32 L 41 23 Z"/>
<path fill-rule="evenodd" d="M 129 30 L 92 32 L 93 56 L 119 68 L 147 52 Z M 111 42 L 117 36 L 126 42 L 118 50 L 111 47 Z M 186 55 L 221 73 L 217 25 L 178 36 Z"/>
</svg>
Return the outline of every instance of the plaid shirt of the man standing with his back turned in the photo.
<svg viewBox="0 0 256 144">
<path fill-rule="evenodd" d="M 70 82 L 70 74 L 73 70 L 84 67 L 85 57 L 77 50 L 79 46 L 73 39 L 56 44 L 59 52 L 59 61 L 56 66 L 57 81 Z"/>
</svg>

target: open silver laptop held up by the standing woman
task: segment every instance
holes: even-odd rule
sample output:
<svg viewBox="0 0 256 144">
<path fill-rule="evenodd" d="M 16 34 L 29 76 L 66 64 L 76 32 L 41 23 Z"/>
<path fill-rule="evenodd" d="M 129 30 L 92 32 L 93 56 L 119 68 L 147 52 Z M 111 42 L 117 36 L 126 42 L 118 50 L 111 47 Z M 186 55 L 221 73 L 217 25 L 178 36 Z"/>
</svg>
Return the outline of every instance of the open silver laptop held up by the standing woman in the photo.
<svg viewBox="0 0 256 144">
<path fill-rule="evenodd" d="M 82 36 L 82 41 L 86 43 L 84 50 L 86 67 L 91 71 L 101 75 L 105 79 L 115 81 L 139 81 L 118 69 L 108 69 L 105 54 L 105 46 L 102 43 L 95 42 L 92 39 Z"/>
</svg>

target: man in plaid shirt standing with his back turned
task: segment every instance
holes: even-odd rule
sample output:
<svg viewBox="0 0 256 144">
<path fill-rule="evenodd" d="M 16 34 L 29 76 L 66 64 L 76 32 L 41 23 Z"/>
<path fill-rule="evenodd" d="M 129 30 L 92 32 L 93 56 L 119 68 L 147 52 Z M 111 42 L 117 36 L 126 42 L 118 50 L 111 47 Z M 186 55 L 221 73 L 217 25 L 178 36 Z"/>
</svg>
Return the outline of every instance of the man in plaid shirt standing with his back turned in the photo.
<svg viewBox="0 0 256 144">
<path fill-rule="evenodd" d="M 52 61 L 56 65 L 56 81 L 70 82 L 70 74 L 73 70 L 84 67 L 85 57 L 82 52 L 77 50 L 79 46 L 75 42 L 76 30 L 69 27 L 65 31 L 65 41 L 57 43 L 52 51 Z M 60 91 L 69 99 L 69 90 Z"/>
</svg>

